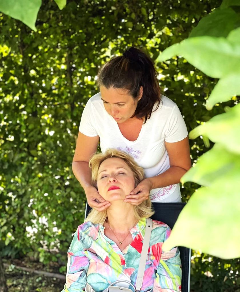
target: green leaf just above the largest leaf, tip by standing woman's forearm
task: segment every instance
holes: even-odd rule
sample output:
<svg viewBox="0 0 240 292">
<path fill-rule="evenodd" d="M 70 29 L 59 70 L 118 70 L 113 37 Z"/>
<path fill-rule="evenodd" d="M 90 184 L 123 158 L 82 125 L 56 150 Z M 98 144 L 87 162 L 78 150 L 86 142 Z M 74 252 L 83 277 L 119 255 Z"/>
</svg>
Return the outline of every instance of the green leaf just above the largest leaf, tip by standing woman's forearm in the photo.
<svg viewBox="0 0 240 292">
<path fill-rule="evenodd" d="M 240 155 L 229 152 L 222 145 L 215 144 L 211 150 L 199 157 L 196 165 L 181 178 L 181 182 L 191 181 L 210 186 L 229 171 L 236 171 L 240 175 Z"/>
</svg>

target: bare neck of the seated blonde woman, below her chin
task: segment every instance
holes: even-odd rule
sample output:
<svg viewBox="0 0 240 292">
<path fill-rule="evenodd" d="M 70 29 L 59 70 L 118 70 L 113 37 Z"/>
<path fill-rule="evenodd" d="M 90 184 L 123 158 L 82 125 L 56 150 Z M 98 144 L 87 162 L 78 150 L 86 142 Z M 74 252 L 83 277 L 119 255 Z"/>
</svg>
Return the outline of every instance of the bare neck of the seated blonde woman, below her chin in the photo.
<svg viewBox="0 0 240 292">
<path fill-rule="evenodd" d="M 134 216 L 133 205 L 123 201 L 114 201 L 107 209 L 108 225 L 113 230 L 127 232 L 137 223 Z"/>
</svg>

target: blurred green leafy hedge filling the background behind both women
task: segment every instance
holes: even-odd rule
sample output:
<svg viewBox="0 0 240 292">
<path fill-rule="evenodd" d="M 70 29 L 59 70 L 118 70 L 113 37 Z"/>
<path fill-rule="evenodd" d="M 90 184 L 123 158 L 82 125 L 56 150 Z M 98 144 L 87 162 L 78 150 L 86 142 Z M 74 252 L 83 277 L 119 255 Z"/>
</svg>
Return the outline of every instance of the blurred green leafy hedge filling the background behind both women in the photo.
<svg viewBox="0 0 240 292">
<path fill-rule="evenodd" d="M 136 46 L 156 60 L 186 39 L 219 0 L 43 0 L 34 32 L 0 13 L 0 248 L 4 260 L 56 263 L 66 270 L 71 234 L 84 220 L 85 195 L 71 162 L 82 110 L 98 92 L 96 74 L 113 55 Z M 184 58 L 156 62 L 162 93 L 174 100 L 189 131 L 224 113 L 238 98 L 206 110 L 217 83 Z M 213 143 L 210 142 L 210 148 Z M 192 163 L 208 149 L 190 140 Z M 199 187 L 185 183 L 182 200 Z M 239 260 L 193 252 L 191 291 L 240 291 Z M 6 276 L 9 291 L 27 290 Z M 30 284 L 29 284 L 30 285 Z M 46 284 L 44 284 L 46 286 Z M 43 286 L 44 286 L 43 285 Z M 60 291 L 53 281 L 46 291 Z M 53 289 L 51 288 L 51 289 Z M 13 290 L 11 290 L 13 289 Z M 25 290 L 24 290 L 25 289 Z"/>
</svg>

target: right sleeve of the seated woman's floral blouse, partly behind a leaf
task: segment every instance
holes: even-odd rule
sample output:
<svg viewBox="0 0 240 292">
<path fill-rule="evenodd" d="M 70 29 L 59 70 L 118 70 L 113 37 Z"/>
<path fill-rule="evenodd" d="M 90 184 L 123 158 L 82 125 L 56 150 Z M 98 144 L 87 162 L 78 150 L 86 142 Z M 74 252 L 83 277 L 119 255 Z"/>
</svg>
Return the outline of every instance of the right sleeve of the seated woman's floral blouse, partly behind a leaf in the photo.
<svg viewBox="0 0 240 292">
<path fill-rule="evenodd" d="M 171 232 L 166 228 L 164 241 Z M 182 268 L 180 253 L 177 247 L 161 253 L 155 275 L 153 292 L 181 292 Z"/>
</svg>

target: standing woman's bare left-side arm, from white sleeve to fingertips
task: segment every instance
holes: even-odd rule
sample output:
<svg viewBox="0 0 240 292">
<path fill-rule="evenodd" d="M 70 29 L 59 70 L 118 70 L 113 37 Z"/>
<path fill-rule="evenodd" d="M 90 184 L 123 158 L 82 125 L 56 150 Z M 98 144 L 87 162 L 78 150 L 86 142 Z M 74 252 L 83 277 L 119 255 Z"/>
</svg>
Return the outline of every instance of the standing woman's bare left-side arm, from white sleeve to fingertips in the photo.
<svg viewBox="0 0 240 292">
<path fill-rule="evenodd" d="M 72 171 L 85 191 L 89 206 L 101 212 L 108 208 L 110 203 L 105 201 L 97 189 L 91 185 L 91 169 L 88 165 L 90 157 L 97 150 L 98 142 L 99 136 L 89 137 L 78 132 Z"/>
</svg>

